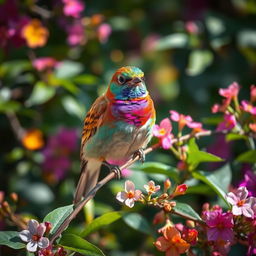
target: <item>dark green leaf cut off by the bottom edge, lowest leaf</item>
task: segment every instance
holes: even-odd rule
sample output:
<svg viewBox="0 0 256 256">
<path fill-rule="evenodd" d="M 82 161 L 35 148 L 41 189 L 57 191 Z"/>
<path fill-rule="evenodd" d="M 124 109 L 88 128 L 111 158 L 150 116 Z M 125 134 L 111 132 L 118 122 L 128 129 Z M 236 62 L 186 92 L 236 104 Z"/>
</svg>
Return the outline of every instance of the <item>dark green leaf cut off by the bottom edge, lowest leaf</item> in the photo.
<svg viewBox="0 0 256 256">
<path fill-rule="evenodd" d="M 65 249 L 81 253 L 86 256 L 104 256 L 105 254 L 95 245 L 80 236 L 64 234 L 59 242 Z"/>
</svg>

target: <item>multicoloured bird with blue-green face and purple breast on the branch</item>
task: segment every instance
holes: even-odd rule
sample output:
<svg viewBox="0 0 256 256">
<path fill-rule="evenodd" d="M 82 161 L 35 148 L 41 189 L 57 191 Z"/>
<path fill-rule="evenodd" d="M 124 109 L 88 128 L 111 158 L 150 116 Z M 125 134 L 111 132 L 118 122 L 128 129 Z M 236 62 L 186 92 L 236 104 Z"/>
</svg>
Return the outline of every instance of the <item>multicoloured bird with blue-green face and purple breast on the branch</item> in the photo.
<svg viewBox="0 0 256 256">
<path fill-rule="evenodd" d="M 152 137 L 155 119 L 142 70 L 134 66 L 117 69 L 84 119 L 75 205 L 97 184 L 102 164 L 121 175 L 118 166 L 110 163 L 126 162 L 136 155 L 144 161 L 143 149 Z"/>
</svg>

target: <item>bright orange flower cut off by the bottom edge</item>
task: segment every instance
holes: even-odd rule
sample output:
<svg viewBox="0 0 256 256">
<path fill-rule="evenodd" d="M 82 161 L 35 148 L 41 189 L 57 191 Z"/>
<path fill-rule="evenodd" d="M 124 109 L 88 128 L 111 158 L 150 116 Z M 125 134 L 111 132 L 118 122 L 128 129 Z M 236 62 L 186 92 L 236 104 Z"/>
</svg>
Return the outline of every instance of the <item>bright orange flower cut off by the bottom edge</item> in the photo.
<svg viewBox="0 0 256 256">
<path fill-rule="evenodd" d="M 168 225 L 161 232 L 163 236 L 156 240 L 155 246 L 159 251 L 165 252 L 166 256 L 179 256 L 189 249 L 190 244 L 181 238 L 175 227 Z"/>
</svg>

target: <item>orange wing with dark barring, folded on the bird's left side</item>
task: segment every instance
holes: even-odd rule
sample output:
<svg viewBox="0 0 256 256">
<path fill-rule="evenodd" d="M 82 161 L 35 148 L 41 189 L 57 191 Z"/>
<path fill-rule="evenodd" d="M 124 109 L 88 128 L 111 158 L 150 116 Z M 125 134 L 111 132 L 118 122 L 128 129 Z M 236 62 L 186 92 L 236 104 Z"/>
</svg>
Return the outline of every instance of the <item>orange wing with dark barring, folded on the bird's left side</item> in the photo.
<svg viewBox="0 0 256 256">
<path fill-rule="evenodd" d="M 86 142 L 96 133 L 97 129 L 102 125 L 104 115 L 108 106 L 108 100 L 105 95 L 95 100 L 89 112 L 84 119 L 84 127 L 81 141 L 81 153 L 83 152 Z M 82 158 L 82 156 L 81 156 Z"/>
</svg>

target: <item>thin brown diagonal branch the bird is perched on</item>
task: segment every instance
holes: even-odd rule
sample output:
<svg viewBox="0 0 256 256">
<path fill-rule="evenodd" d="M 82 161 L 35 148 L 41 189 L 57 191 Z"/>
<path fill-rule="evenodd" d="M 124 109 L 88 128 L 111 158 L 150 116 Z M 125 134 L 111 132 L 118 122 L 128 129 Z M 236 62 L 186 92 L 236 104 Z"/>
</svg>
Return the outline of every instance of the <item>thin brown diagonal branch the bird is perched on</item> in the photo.
<svg viewBox="0 0 256 256">
<path fill-rule="evenodd" d="M 187 134 L 180 138 L 175 138 L 172 140 L 172 143 L 177 142 L 184 142 L 189 140 L 192 137 L 200 138 L 204 136 L 210 136 L 213 134 L 226 134 L 228 131 L 203 131 L 198 132 L 196 134 Z M 153 150 L 160 147 L 160 143 L 156 143 L 152 145 L 151 147 L 148 147 L 144 150 L 145 154 L 148 154 L 152 152 Z M 131 166 L 134 162 L 139 160 L 139 156 L 136 156 L 130 160 L 128 160 L 124 165 L 120 166 L 120 170 L 123 170 L 129 166 Z M 77 214 L 83 209 L 83 207 L 86 205 L 88 201 L 90 201 L 97 193 L 97 191 L 104 186 L 107 182 L 114 179 L 116 177 L 116 174 L 114 172 L 111 172 L 108 174 L 104 179 L 102 179 L 100 182 L 97 183 L 97 185 L 85 196 L 84 199 L 82 199 L 74 208 L 73 212 L 64 220 L 64 222 L 60 225 L 60 227 L 57 229 L 57 231 L 53 234 L 51 237 L 50 243 L 53 244 L 53 242 L 61 235 L 61 233 L 68 227 L 69 223 L 77 216 Z M 175 213 L 177 214 L 177 213 Z"/>
</svg>

